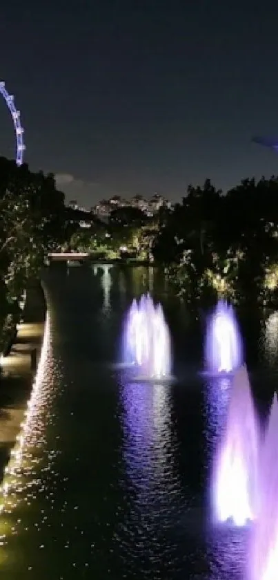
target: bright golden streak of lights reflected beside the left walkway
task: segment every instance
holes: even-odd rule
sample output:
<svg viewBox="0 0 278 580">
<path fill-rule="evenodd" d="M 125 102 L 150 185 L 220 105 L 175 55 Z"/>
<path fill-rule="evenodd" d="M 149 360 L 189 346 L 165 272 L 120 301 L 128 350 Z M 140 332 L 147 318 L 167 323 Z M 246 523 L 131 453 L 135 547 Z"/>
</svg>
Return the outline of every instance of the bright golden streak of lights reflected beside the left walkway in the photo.
<svg viewBox="0 0 278 580">
<path fill-rule="evenodd" d="M 24 483 L 23 471 L 25 475 L 32 475 L 33 464 L 39 460 L 32 456 L 32 448 L 40 447 L 43 443 L 43 420 L 39 414 L 43 407 L 47 405 L 48 393 L 41 389 L 44 377 L 47 374 L 47 362 L 50 348 L 50 315 L 46 313 L 46 323 L 41 346 L 41 355 L 37 366 L 37 373 L 34 378 L 30 399 L 24 413 L 25 419 L 21 422 L 21 430 L 16 438 L 16 445 L 10 453 L 10 461 L 5 468 L 3 482 L 0 487 L 2 502 L 0 511 L 3 514 L 11 514 L 21 503 L 30 503 L 28 497 L 28 487 L 32 486 L 34 480 Z M 43 424 L 42 424 L 43 423 Z M 2 522 L 3 523 L 3 522 Z M 1 536 L 1 540 L 6 534 Z"/>
</svg>

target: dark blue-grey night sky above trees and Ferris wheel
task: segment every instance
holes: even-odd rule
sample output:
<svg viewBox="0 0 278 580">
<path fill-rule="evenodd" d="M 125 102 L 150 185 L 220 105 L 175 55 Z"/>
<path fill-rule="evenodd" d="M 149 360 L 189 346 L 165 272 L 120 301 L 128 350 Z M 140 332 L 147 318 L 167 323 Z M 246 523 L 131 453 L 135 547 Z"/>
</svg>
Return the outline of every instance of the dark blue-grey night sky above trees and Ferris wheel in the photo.
<svg viewBox="0 0 278 580">
<path fill-rule="evenodd" d="M 30 168 L 89 207 L 178 200 L 188 183 L 278 174 L 278 2 L 49 0 L 1 4 L 1 77 Z M 0 154 L 14 155 L 1 99 Z"/>
</svg>

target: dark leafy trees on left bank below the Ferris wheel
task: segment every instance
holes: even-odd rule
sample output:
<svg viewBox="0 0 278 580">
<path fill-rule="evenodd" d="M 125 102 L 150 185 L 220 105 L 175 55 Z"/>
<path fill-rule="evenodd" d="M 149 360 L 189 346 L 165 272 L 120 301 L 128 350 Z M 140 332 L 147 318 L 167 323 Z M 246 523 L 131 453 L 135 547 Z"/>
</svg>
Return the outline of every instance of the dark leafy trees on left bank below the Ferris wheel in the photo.
<svg viewBox="0 0 278 580">
<path fill-rule="evenodd" d="M 0 350 L 19 317 L 28 280 L 65 237 L 64 196 L 54 176 L 0 158 Z"/>
</svg>

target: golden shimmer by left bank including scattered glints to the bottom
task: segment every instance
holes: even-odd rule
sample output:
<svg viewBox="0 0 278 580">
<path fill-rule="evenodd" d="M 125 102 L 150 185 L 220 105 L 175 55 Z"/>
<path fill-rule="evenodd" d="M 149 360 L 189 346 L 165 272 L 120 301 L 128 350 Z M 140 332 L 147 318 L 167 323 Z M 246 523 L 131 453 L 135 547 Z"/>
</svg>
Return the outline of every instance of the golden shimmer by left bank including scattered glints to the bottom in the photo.
<svg viewBox="0 0 278 580">
<path fill-rule="evenodd" d="M 59 374 L 52 358 L 51 334 L 48 313 L 41 357 L 25 413 L 26 418 L 21 424 L 17 445 L 12 450 L 1 487 L 3 497 L 0 519 L 1 561 L 7 559 L 6 571 L 9 572 L 11 567 L 14 570 L 14 576 L 12 576 L 14 578 L 17 578 L 16 571 L 18 570 L 13 561 L 12 537 L 19 535 L 22 543 L 24 534 L 29 530 L 32 504 L 35 501 L 44 498 L 52 505 L 52 508 L 55 504 L 53 466 L 59 454 L 59 437 L 57 441 L 52 442 L 51 449 L 46 445 L 48 427 L 52 426 L 56 420 L 53 413 L 53 397 Z M 51 485 L 49 485 L 50 479 Z M 32 527 L 34 526 L 33 529 L 39 534 L 43 528 L 47 527 L 48 518 L 44 516 L 43 510 L 37 513 L 36 517 Z M 26 525 L 27 522 L 28 525 Z M 17 545 L 16 556 L 21 572 L 28 570 L 28 562 L 23 552 L 19 550 L 19 545 Z"/>
</svg>

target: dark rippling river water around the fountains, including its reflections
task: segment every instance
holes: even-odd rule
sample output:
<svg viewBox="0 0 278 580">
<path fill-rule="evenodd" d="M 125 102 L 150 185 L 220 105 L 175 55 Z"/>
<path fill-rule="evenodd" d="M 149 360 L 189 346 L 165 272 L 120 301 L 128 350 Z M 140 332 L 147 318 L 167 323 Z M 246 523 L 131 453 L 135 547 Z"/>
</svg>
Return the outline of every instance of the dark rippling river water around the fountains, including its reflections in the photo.
<svg viewBox="0 0 278 580">
<path fill-rule="evenodd" d="M 248 530 L 213 529 L 213 449 L 229 381 L 201 378 L 203 314 L 147 268 L 46 273 L 46 342 L 0 516 L 6 580 L 237 580 Z M 130 299 L 161 290 L 177 383 L 115 368 Z M 261 413 L 277 380 L 278 314 L 242 322 Z"/>
</svg>

